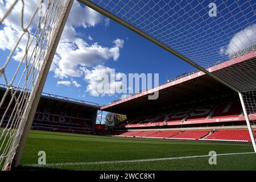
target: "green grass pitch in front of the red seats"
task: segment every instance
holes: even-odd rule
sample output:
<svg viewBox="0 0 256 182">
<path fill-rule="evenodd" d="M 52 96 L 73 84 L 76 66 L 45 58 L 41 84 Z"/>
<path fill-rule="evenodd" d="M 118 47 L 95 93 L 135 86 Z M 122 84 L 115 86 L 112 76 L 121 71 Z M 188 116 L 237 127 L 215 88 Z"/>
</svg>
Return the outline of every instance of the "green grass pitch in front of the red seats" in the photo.
<svg viewBox="0 0 256 182">
<path fill-rule="evenodd" d="M 208 163 L 209 157 L 125 162 L 112 164 L 73 164 L 77 162 L 105 162 L 118 160 L 170 158 L 234 152 L 253 152 L 250 144 L 183 142 L 164 139 L 101 137 L 94 135 L 30 131 L 19 170 L 256 170 L 256 154 L 217 156 L 217 165 Z M 46 152 L 47 164 L 38 163 L 38 152 Z M 67 164 L 68 163 L 68 164 Z"/>
</svg>

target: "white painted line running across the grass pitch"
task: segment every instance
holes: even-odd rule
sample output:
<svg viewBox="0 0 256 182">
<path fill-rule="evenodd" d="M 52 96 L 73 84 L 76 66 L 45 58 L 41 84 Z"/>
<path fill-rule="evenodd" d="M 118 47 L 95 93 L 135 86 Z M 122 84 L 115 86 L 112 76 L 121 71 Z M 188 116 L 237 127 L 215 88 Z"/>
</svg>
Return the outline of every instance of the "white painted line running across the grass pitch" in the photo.
<svg viewBox="0 0 256 182">
<path fill-rule="evenodd" d="M 241 155 L 241 154 L 256 154 L 255 152 L 241 152 L 241 153 L 229 153 L 229 154 L 216 154 L 216 156 L 222 155 Z M 26 167 L 54 167 L 54 166 L 82 166 L 90 164 L 118 164 L 118 163 L 138 163 L 138 162 L 152 162 L 159 160 L 176 160 L 176 159 L 191 159 L 191 158 L 205 158 L 212 155 L 194 155 L 194 156 L 181 156 L 173 158 L 153 158 L 153 159 L 135 159 L 135 160 L 112 160 L 112 161 L 100 161 L 100 162 L 77 162 L 77 163 L 49 163 L 49 164 L 26 164 Z"/>
</svg>

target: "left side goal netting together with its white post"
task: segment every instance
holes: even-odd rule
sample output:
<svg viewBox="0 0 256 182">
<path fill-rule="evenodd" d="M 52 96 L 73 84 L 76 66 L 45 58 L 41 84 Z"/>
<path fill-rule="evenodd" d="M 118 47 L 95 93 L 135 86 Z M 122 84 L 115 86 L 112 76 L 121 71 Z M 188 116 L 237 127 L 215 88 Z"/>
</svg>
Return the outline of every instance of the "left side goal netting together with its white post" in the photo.
<svg viewBox="0 0 256 182">
<path fill-rule="evenodd" d="M 3 49 L 6 43 L 1 53 L 7 57 L 0 63 L 0 81 L 5 85 L 0 97 L 0 108 L 4 110 L 0 118 L 2 170 L 10 169 L 17 151 L 24 147 L 21 141 L 26 141 L 72 3 L 73 0 L 0 1 L 0 34 L 14 34 L 16 38 L 2 40 L 0 45 Z"/>
</svg>

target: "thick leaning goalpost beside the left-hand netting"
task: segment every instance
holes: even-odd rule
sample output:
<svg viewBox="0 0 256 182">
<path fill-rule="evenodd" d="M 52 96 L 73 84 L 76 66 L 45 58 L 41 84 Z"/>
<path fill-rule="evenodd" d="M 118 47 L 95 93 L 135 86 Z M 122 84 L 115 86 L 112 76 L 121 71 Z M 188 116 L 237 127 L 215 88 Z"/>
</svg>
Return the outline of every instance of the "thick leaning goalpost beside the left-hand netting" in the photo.
<svg viewBox="0 0 256 182">
<path fill-rule="evenodd" d="M 55 52 L 56 52 L 57 46 L 59 44 L 62 32 L 64 30 L 65 23 L 67 22 L 69 12 L 71 11 L 73 2 L 74 2 L 74 0 L 69 0 L 67 10 L 65 11 L 63 19 L 61 20 L 59 30 L 57 30 L 56 38 L 55 38 L 55 40 L 53 40 L 54 42 L 53 42 L 51 51 L 49 52 L 48 59 L 46 60 L 46 65 L 44 68 L 42 68 L 42 78 L 36 80 L 35 85 L 38 85 L 38 86 L 35 86 L 35 88 L 30 93 L 31 96 L 34 94 L 35 98 L 32 99 L 32 101 L 30 103 L 31 109 L 28 110 L 28 118 L 27 118 L 26 124 L 24 126 L 22 136 L 20 138 L 18 150 L 16 151 L 15 158 L 12 163 L 13 167 L 18 167 L 19 162 L 22 158 L 22 153 L 23 153 L 25 144 L 27 142 L 27 137 L 28 137 L 28 133 L 30 131 L 32 122 L 34 121 L 34 116 L 35 116 L 36 109 L 38 107 L 38 104 L 39 104 L 39 101 L 41 98 L 41 94 L 43 92 L 44 84 L 46 82 L 46 78 L 47 78 L 49 69 L 51 67 L 53 57 L 55 56 Z"/>
</svg>

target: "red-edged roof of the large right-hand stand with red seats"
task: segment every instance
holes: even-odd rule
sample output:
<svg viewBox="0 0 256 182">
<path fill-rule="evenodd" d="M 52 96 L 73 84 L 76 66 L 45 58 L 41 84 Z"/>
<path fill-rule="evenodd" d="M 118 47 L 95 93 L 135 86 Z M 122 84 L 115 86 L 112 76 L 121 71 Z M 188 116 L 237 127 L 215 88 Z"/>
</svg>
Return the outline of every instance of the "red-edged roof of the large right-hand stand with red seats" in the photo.
<svg viewBox="0 0 256 182">
<path fill-rule="evenodd" d="M 232 67 L 244 67 L 248 61 L 256 64 L 256 51 L 247 53 L 224 63 L 210 67 L 208 71 L 218 72 L 223 69 L 232 70 Z M 241 73 L 242 74 L 242 73 Z M 233 76 L 235 80 L 241 75 Z M 250 81 L 248 82 L 250 85 Z M 157 100 L 148 100 L 148 94 L 159 90 Z M 180 78 L 179 80 L 168 82 L 158 88 L 147 90 L 123 100 L 114 101 L 108 105 L 101 106 L 101 110 L 112 113 L 128 114 L 138 110 L 153 110 L 162 107 L 175 106 L 189 102 L 207 101 L 222 96 L 232 96 L 233 90 L 203 72 L 196 72 Z"/>
</svg>

